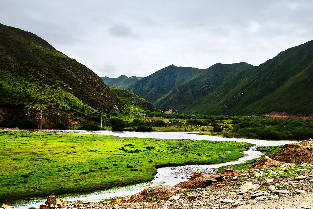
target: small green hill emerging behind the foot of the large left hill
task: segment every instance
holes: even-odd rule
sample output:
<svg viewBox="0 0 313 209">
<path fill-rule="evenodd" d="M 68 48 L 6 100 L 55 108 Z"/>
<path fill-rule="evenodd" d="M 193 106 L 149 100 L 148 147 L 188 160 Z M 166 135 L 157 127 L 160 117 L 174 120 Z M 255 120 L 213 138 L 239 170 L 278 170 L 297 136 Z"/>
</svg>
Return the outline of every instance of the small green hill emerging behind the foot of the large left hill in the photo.
<svg viewBox="0 0 313 209">
<path fill-rule="evenodd" d="M 110 87 L 110 89 L 130 109 L 139 108 L 145 111 L 149 110 L 151 112 L 159 111 L 151 102 L 148 102 L 129 90 L 114 87 Z"/>
</svg>

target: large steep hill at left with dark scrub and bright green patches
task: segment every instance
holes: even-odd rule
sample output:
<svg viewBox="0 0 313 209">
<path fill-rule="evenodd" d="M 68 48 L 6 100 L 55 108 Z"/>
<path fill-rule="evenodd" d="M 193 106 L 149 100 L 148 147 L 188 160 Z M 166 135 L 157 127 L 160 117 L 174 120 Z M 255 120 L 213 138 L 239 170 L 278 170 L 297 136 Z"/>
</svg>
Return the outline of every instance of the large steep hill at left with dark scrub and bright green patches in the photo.
<svg viewBox="0 0 313 209">
<path fill-rule="evenodd" d="M 45 126 L 54 127 L 58 121 L 80 123 L 98 118 L 99 110 L 116 115 L 125 108 L 85 65 L 33 33 L 3 24 L 0 93 L 0 121 L 14 127 L 21 118 L 38 125 L 40 109 Z"/>
</svg>

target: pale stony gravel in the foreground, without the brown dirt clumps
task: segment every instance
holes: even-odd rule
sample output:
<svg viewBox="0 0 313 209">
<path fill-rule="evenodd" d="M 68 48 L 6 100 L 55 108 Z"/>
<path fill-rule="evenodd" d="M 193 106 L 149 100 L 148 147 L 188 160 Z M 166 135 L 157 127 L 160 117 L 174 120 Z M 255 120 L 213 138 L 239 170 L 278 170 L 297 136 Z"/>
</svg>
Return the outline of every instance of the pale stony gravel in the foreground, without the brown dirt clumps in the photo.
<svg viewBox="0 0 313 209">
<path fill-rule="evenodd" d="M 225 174 L 227 175 L 225 181 L 213 183 L 209 187 L 172 189 L 172 191 L 167 189 L 167 192 L 179 193 L 172 200 L 168 200 L 171 193 L 167 194 L 164 200 L 162 197 L 165 197 L 165 194 L 162 192 L 161 197 L 155 189 L 155 193 L 146 194 L 142 202 L 133 202 L 136 196 L 141 197 L 139 193 L 133 198 L 131 196 L 123 198 L 130 202 L 112 201 L 113 204 L 109 204 L 108 202 L 75 201 L 61 204 L 59 208 L 311 208 L 309 206 L 312 206 L 312 168 L 312 164 L 305 163 L 262 161 L 255 168 L 241 172 L 237 179 L 231 181 L 226 180 L 229 178 Z M 204 178 L 204 176 L 197 176 L 198 178 Z M 149 191 L 152 191 L 151 188 Z M 152 197 L 156 200 L 155 202 L 151 202 Z"/>
</svg>

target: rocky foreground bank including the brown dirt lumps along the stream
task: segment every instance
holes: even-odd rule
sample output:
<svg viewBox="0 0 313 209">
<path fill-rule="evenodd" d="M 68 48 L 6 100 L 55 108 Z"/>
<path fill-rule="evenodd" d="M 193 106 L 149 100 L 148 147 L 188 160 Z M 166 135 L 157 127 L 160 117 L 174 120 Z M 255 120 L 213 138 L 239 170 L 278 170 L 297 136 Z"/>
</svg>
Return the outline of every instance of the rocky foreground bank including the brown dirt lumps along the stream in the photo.
<svg viewBox="0 0 313 209">
<path fill-rule="evenodd" d="M 313 148 L 313 143 L 309 141 L 302 142 L 303 144 L 300 143 L 291 150 L 302 149 L 305 144 Z M 113 199 L 110 203 L 61 200 L 54 202 L 55 197 L 54 199 L 49 197 L 46 204 L 51 206 L 42 205 L 41 209 L 313 209 L 313 164 L 304 162 L 297 164 L 279 162 L 265 157 L 244 171 L 234 171 L 232 167 L 228 167 L 218 175 L 202 175 L 195 172 L 189 180 L 175 186 L 149 187 L 138 194 Z M 11 208 L 4 205 L 1 209 Z"/>
</svg>

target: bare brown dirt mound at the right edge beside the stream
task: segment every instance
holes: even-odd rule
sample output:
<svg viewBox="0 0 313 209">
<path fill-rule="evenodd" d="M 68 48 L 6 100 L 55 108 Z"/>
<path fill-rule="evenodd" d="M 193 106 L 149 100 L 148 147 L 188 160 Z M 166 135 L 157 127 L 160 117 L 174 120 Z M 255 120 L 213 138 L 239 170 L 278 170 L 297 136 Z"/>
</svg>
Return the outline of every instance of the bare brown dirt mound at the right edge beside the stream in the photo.
<svg viewBox="0 0 313 209">
<path fill-rule="evenodd" d="M 280 162 L 313 163 L 313 139 L 296 144 L 286 144 L 280 151 L 269 157 Z"/>
</svg>

